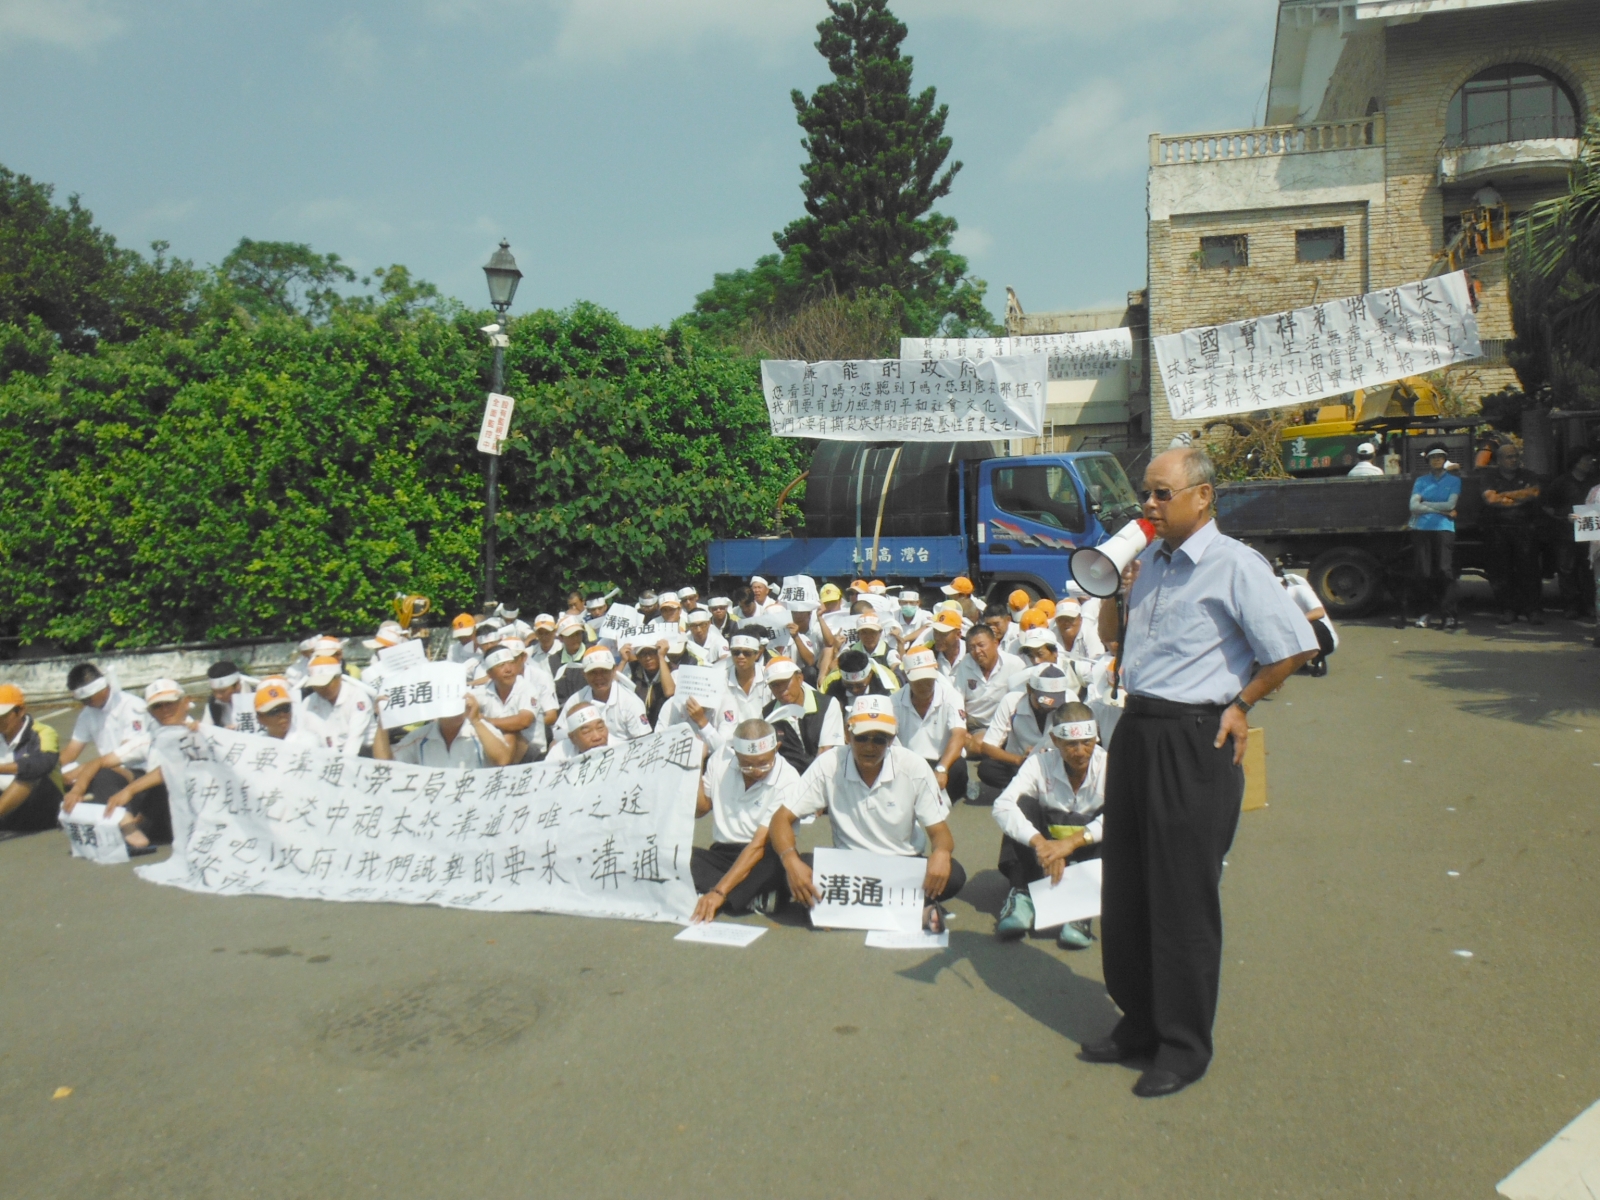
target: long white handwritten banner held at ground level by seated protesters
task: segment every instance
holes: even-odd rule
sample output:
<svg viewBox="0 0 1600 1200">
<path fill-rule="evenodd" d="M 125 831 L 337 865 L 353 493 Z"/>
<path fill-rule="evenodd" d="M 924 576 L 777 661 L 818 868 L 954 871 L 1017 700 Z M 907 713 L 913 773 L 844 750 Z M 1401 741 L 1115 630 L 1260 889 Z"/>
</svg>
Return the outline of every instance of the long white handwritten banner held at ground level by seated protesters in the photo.
<svg viewBox="0 0 1600 1200">
<path fill-rule="evenodd" d="M 562 763 L 432 770 L 227 730 L 162 755 L 173 854 L 152 883 L 222 896 L 686 923 L 699 742 L 688 725 Z"/>
</svg>

